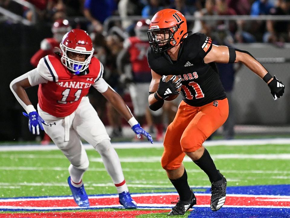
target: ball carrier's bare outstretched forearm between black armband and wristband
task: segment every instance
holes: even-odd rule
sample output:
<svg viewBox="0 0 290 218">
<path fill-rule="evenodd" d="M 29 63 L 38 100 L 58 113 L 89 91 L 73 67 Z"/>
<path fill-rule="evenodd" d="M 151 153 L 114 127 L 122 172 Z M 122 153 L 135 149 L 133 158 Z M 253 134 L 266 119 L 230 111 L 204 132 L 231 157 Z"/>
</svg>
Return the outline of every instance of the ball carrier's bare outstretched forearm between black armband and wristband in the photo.
<svg viewBox="0 0 290 218">
<path fill-rule="evenodd" d="M 250 54 L 236 51 L 236 61 L 241 62 L 246 65 L 251 71 L 257 74 L 259 77 L 263 78 L 268 71 L 261 65 L 255 58 Z"/>
</svg>

